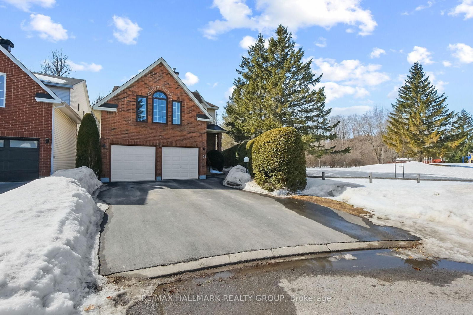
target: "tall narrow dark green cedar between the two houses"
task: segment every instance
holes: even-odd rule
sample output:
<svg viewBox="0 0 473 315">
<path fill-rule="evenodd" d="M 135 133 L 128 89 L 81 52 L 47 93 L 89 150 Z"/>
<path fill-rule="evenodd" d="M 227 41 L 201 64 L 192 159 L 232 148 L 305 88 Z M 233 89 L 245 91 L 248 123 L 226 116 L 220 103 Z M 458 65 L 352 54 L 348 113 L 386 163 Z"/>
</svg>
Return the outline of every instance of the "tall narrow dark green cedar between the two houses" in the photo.
<svg viewBox="0 0 473 315">
<path fill-rule="evenodd" d="M 76 167 L 80 166 L 91 168 L 97 175 L 102 166 L 100 134 L 95 117 L 90 113 L 82 118 L 77 133 Z"/>
</svg>

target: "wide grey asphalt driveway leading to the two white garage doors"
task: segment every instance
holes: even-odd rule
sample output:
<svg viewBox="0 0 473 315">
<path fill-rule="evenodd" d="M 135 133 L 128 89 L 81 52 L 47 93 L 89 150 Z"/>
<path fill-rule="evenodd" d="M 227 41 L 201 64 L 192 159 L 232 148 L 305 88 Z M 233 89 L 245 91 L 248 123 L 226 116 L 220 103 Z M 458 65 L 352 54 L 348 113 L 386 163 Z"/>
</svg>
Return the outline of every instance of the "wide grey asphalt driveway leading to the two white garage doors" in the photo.
<svg viewBox="0 0 473 315">
<path fill-rule="evenodd" d="M 311 202 L 228 188 L 220 178 L 106 184 L 100 273 L 284 246 L 417 240 Z"/>
</svg>

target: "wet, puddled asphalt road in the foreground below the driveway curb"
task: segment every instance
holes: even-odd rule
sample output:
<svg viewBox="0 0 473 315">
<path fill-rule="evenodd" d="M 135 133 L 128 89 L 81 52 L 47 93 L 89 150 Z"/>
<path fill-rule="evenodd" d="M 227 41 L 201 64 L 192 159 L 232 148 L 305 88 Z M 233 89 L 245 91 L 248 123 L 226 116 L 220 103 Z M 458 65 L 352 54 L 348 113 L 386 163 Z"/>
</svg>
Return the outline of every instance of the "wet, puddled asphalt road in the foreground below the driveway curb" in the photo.
<svg viewBox="0 0 473 315">
<path fill-rule="evenodd" d="M 342 254 L 357 259 L 337 261 L 333 258 L 335 254 L 319 254 L 317 258 L 295 262 L 261 264 L 207 275 L 196 273 L 194 278 L 158 285 L 152 295 L 129 306 L 127 314 L 472 312 L 471 264 L 401 259 L 394 257 L 395 252 L 391 250 Z M 206 297 L 214 300 L 202 301 Z"/>
</svg>

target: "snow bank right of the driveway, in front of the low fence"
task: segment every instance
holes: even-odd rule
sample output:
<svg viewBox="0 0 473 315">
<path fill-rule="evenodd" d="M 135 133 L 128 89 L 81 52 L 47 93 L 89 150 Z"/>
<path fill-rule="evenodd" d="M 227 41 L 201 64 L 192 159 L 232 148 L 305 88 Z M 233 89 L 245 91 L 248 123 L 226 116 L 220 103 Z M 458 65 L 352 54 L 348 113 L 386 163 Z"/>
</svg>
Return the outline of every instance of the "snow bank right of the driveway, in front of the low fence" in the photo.
<svg viewBox="0 0 473 315">
<path fill-rule="evenodd" d="M 433 256 L 473 263 L 472 191 L 472 183 L 461 182 L 307 178 L 301 194 L 333 194 L 332 199 L 374 213 L 370 220 L 376 224 L 420 236 Z"/>
</svg>

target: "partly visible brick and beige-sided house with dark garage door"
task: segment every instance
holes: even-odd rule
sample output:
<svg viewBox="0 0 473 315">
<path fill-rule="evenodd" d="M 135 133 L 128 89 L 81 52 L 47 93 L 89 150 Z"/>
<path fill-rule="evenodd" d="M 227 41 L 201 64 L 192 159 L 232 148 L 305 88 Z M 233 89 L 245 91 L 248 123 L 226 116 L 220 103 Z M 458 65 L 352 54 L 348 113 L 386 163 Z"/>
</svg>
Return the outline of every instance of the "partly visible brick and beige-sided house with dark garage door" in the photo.
<svg viewBox="0 0 473 315">
<path fill-rule="evenodd" d="M 74 168 L 78 124 L 90 113 L 85 80 L 33 73 L 0 37 L 0 182 Z"/>
</svg>

